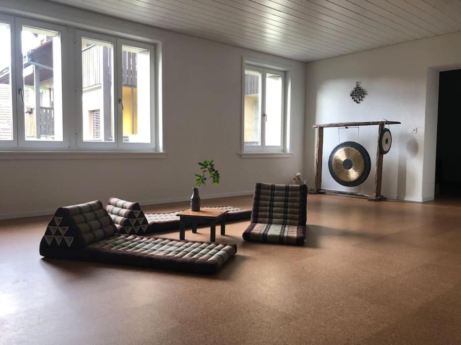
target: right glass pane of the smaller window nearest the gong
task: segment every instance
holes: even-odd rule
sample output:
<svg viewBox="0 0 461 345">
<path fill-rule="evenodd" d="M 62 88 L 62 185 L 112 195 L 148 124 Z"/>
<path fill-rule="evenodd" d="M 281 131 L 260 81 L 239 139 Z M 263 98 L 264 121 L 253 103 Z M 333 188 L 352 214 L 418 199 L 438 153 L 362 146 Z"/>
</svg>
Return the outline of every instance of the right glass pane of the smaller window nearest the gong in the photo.
<svg viewBox="0 0 461 345">
<path fill-rule="evenodd" d="M 266 145 L 280 146 L 282 141 L 282 77 L 266 74 Z"/>
</svg>

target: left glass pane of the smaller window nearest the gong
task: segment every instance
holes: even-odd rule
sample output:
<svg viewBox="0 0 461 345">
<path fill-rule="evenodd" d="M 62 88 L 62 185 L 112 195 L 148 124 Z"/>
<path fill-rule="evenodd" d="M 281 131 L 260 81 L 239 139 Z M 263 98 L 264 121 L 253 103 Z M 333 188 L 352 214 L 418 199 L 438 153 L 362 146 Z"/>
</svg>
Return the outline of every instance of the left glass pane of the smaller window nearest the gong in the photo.
<svg viewBox="0 0 461 345">
<path fill-rule="evenodd" d="M 245 70 L 245 145 L 261 145 L 261 73 Z"/>
</svg>

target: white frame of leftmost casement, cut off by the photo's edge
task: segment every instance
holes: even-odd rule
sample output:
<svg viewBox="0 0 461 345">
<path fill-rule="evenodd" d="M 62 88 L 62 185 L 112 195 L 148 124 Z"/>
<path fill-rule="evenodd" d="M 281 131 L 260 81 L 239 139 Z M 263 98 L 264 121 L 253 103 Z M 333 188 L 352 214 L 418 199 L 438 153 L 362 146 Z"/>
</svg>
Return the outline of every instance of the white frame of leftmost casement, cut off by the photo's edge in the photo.
<svg viewBox="0 0 461 345">
<path fill-rule="evenodd" d="M 0 140 L 0 148 L 2 150 L 17 150 L 18 149 L 18 116 L 17 116 L 17 95 L 18 88 L 16 87 L 16 45 L 15 45 L 15 18 L 0 14 L 0 22 L 10 25 L 10 82 L 11 82 L 11 111 L 12 111 L 12 130 L 13 140 Z"/>
</svg>

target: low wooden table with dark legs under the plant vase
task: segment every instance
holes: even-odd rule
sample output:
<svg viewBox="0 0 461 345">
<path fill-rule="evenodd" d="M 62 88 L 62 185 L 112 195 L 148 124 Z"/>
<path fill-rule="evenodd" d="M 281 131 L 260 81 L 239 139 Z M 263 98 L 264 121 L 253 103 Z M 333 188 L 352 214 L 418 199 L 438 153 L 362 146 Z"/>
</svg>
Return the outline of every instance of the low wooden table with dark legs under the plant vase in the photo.
<svg viewBox="0 0 461 345">
<path fill-rule="evenodd" d="M 184 239 L 186 234 L 186 222 L 192 223 L 192 232 L 197 232 L 197 223 L 201 220 L 209 221 L 211 224 L 211 231 L 209 240 L 216 241 L 216 223 L 221 223 L 221 235 L 226 234 L 226 213 L 227 210 L 218 209 L 201 209 L 200 211 L 181 211 L 177 214 L 179 217 L 179 238 Z"/>
</svg>

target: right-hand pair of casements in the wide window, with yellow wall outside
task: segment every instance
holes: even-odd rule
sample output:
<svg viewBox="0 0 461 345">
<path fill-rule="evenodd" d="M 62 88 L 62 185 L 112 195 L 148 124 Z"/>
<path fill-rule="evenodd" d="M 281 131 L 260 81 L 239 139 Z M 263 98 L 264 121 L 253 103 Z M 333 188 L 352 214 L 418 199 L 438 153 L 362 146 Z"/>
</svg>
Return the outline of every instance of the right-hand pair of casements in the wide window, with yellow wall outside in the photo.
<svg viewBox="0 0 461 345">
<path fill-rule="evenodd" d="M 77 31 L 76 40 L 79 145 L 126 151 L 154 147 L 154 46 L 83 31 Z"/>
</svg>

